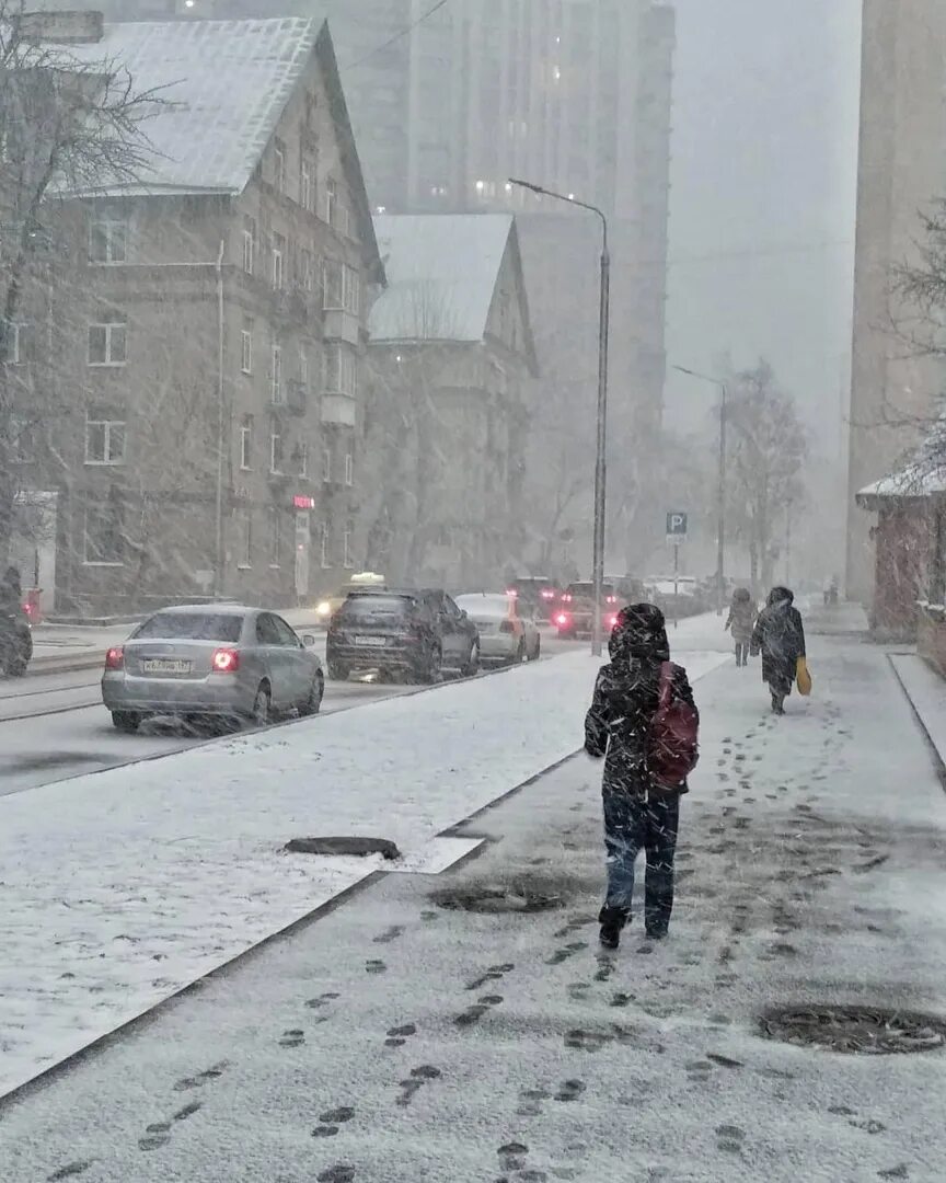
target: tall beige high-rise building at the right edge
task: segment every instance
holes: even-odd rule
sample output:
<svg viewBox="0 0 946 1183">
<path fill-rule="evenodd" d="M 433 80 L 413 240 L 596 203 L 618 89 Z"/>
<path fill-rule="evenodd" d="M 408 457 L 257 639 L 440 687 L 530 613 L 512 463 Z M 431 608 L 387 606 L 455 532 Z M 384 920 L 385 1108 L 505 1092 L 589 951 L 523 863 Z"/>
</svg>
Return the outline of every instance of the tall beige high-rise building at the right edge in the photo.
<svg viewBox="0 0 946 1183">
<path fill-rule="evenodd" d="M 898 338 L 890 290 L 892 270 L 919 260 L 920 211 L 946 189 L 946 5 L 864 0 L 861 79 L 847 581 L 869 602 L 874 517 L 855 497 L 916 441 L 946 376 Z"/>
</svg>

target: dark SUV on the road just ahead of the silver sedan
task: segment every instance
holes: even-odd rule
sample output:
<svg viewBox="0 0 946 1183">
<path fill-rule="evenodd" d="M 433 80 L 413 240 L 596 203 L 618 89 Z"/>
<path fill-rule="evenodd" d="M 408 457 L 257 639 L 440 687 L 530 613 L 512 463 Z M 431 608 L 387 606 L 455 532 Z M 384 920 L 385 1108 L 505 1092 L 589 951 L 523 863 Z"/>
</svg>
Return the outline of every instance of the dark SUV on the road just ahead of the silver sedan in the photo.
<svg viewBox="0 0 946 1183">
<path fill-rule="evenodd" d="M 335 613 L 326 641 L 329 677 L 357 670 L 434 681 L 441 670 L 479 670 L 477 626 L 441 590 L 352 592 Z"/>
</svg>

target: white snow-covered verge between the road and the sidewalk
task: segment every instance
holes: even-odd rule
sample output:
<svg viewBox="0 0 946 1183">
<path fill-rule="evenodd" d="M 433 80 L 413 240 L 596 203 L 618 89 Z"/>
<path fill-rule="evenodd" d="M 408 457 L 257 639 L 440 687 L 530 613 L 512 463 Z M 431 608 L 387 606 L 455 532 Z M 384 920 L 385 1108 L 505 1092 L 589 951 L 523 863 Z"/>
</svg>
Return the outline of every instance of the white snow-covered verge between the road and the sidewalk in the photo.
<svg viewBox="0 0 946 1183">
<path fill-rule="evenodd" d="M 687 627 L 688 626 L 688 627 Z M 694 678 L 714 618 L 674 644 Z M 380 865 L 286 855 L 310 834 L 441 830 L 575 751 L 587 653 L 0 800 L 0 1094 Z"/>
</svg>

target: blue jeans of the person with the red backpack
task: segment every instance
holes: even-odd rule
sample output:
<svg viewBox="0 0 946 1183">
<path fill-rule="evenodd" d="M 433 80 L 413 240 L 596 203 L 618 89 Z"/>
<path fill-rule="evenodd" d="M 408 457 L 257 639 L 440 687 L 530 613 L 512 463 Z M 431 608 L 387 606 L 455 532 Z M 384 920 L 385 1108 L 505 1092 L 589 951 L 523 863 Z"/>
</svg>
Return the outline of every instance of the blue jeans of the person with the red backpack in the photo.
<svg viewBox="0 0 946 1183">
<path fill-rule="evenodd" d="M 648 930 L 667 927 L 673 911 L 673 858 L 679 822 L 676 794 L 656 801 L 640 801 L 626 793 L 604 794 L 605 907 L 630 912 L 634 862 L 644 851 L 644 925 Z"/>
</svg>

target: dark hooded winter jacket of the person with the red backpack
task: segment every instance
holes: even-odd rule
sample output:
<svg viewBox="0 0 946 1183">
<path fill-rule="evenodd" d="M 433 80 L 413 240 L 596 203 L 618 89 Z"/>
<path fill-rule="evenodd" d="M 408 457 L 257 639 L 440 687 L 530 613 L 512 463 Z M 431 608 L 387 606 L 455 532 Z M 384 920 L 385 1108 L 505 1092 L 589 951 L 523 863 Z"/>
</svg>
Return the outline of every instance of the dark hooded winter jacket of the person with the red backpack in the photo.
<svg viewBox="0 0 946 1183">
<path fill-rule="evenodd" d="M 670 652 L 663 613 L 653 605 L 622 608 L 609 642 L 611 661 L 602 666 L 584 720 L 584 748 L 604 756 L 603 791 L 647 796 L 647 746 L 657 710 L 660 667 Z M 686 671 L 674 666 L 674 698 L 694 706 Z M 686 784 L 680 787 L 687 791 Z M 662 794 L 666 796 L 666 791 Z"/>
</svg>

